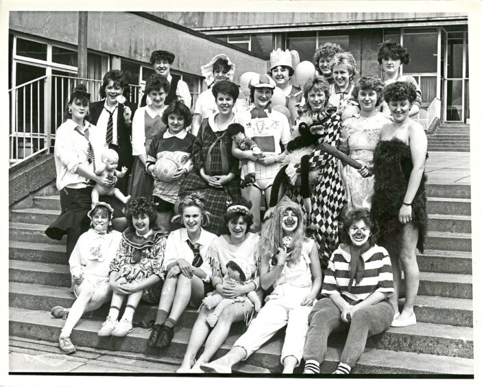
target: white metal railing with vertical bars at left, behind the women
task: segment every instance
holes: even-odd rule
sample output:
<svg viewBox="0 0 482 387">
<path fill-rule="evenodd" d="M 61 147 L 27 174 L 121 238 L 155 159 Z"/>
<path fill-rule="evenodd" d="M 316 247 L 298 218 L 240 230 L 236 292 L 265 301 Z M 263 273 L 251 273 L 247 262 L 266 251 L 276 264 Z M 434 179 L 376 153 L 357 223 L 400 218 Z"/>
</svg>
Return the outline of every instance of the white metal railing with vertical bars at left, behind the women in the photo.
<svg viewBox="0 0 482 387">
<path fill-rule="evenodd" d="M 67 119 L 67 103 L 78 83 L 91 102 L 100 100 L 101 80 L 44 75 L 8 91 L 10 102 L 10 167 L 53 148 L 56 128 Z M 138 104 L 141 86 L 130 85 L 130 102 Z"/>
</svg>

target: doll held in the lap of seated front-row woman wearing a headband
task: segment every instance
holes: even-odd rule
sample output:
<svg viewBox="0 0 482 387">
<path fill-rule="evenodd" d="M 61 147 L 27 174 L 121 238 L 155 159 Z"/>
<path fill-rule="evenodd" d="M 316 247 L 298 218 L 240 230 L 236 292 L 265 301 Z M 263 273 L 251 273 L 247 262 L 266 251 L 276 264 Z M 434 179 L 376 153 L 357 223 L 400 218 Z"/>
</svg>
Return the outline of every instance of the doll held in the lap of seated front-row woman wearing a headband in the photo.
<svg viewBox="0 0 482 387">
<path fill-rule="evenodd" d="M 228 261 L 226 263 L 226 270 L 227 273 L 223 277 L 224 281 L 232 281 L 234 283 L 239 283 L 240 285 L 244 285 L 245 281 L 251 279 L 251 268 L 248 263 L 244 261 Z M 221 294 L 218 292 L 210 292 L 208 296 L 204 298 L 202 303 L 206 305 L 208 309 L 214 309 L 213 313 L 211 313 L 208 318 L 206 318 L 206 322 L 210 325 L 210 327 L 214 327 L 216 325 L 217 319 L 223 309 L 228 305 L 236 302 L 244 302 L 244 301 L 251 301 L 254 305 L 254 310 L 256 312 L 261 309 L 261 301 L 256 294 L 256 292 L 251 291 L 243 296 L 237 296 L 236 298 L 223 298 Z"/>
</svg>

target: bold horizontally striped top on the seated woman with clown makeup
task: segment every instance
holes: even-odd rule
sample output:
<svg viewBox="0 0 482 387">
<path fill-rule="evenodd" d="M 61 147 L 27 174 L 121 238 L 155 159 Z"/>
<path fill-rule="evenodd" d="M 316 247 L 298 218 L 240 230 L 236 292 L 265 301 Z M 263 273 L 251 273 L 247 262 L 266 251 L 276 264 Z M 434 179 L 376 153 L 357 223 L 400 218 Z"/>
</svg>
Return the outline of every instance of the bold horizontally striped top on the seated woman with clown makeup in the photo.
<svg viewBox="0 0 482 387">
<path fill-rule="evenodd" d="M 343 250 L 341 244 L 331 255 L 323 282 L 322 296 L 339 293 L 350 305 L 357 304 L 373 292 L 394 292 L 394 276 L 387 250 L 374 245 L 361 255 L 365 262 L 363 279 L 357 283 L 355 279 L 350 292 L 350 253 Z"/>
</svg>

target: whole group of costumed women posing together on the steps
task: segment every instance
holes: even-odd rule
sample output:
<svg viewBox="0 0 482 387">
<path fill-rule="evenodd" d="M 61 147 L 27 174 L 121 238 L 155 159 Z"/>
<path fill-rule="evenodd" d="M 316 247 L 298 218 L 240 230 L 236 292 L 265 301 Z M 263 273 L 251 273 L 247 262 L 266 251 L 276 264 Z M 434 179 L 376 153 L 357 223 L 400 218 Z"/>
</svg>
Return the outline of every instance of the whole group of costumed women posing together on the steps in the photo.
<svg viewBox="0 0 482 387">
<path fill-rule="evenodd" d="M 350 373 L 367 336 L 416 323 L 427 141 L 410 118 L 420 89 L 400 75 L 407 50 L 383 43 L 383 77 L 355 83 L 353 56 L 326 43 L 301 89 L 290 83 L 289 51 L 274 51 L 272 78 L 252 77 L 248 108 L 237 103 L 234 64 L 219 54 L 202 67 L 210 89 L 193 116 L 182 81 L 169 78 L 172 60 L 154 51 L 156 75 L 140 108 L 125 102 L 121 71 L 104 76 L 101 102 L 89 104 L 77 86 L 56 132 L 62 213 L 46 233 L 67 235 L 77 297 L 51 311 L 67 319 L 60 349 L 75 352 L 73 327 L 109 300 L 98 334 L 126 336 L 143 300 L 158 304 L 147 340 L 158 349 L 169 347 L 186 307 L 199 308 L 180 373 L 229 373 L 282 327 L 284 373 L 301 363 L 304 373 L 320 373 L 328 336 L 342 330 L 348 338 L 335 373 Z M 285 110 L 272 106 L 276 87 Z M 113 167 L 128 169 L 124 178 L 99 174 L 108 149 L 119 156 Z M 254 164 L 253 176 L 240 160 Z M 125 213 L 109 194 L 91 200 L 93 185 L 109 193 L 116 183 L 130 195 Z M 263 195 L 271 207 L 264 223 Z M 210 362 L 241 321 L 245 333 Z"/>
</svg>

